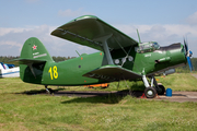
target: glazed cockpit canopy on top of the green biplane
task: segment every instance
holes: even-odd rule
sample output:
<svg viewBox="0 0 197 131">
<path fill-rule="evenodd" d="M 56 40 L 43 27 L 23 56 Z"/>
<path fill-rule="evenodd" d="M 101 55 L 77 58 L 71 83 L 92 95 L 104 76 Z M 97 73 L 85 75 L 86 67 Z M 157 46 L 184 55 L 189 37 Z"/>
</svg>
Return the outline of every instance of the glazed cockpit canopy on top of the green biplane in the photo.
<svg viewBox="0 0 197 131">
<path fill-rule="evenodd" d="M 141 43 L 138 47 L 136 47 L 136 51 L 139 53 L 150 52 L 158 49 L 160 49 L 160 45 L 157 41 Z"/>
</svg>

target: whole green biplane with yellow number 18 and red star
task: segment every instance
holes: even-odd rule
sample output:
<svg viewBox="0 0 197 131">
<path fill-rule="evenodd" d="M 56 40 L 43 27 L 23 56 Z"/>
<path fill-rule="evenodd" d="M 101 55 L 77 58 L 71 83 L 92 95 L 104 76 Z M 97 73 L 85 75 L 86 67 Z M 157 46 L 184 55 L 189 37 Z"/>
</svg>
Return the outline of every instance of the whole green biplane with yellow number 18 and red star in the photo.
<svg viewBox="0 0 197 131">
<path fill-rule="evenodd" d="M 174 73 L 174 69 L 184 66 L 188 61 L 187 56 L 192 56 L 186 43 L 166 47 L 160 47 L 157 41 L 138 43 L 93 15 L 74 19 L 51 35 L 100 51 L 57 63 L 37 38 L 28 38 L 18 59 L 20 78 L 27 83 L 45 85 L 46 90 L 48 85 L 74 86 L 142 80 L 144 95 L 153 98 L 157 93 L 165 92 L 163 85 L 158 85 L 154 75 Z"/>
</svg>

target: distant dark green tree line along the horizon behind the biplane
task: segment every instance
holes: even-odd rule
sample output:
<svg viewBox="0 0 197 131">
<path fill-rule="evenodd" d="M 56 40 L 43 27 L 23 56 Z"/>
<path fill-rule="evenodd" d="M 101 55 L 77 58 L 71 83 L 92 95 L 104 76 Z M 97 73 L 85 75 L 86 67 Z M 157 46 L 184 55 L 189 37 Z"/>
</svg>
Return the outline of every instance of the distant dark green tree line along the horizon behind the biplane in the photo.
<svg viewBox="0 0 197 131">
<path fill-rule="evenodd" d="M 13 57 L 13 56 L 0 56 L 0 62 L 8 62 L 10 60 L 18 59 L 18 58 L 20 58 L 20 56 L 16 56 L 16 57 Z M 55 57 L 55 56 L 53 57 L 54 61 L 56 61 L 56 62 L 60 62 L 60 61 L 65 61 L 65 60 L 73 59 L 73 58 L 76 58 L 76 57 Z M 192 58 L 192 63 L 193 63 L 194 70 L 197 69 L 197 58 Z M 178 72 L 178 73 L 189 73 L 190 72 L 189 66 L 186 64 L 184 67 L 176 68 L 176 72 Z"/>
</svg>

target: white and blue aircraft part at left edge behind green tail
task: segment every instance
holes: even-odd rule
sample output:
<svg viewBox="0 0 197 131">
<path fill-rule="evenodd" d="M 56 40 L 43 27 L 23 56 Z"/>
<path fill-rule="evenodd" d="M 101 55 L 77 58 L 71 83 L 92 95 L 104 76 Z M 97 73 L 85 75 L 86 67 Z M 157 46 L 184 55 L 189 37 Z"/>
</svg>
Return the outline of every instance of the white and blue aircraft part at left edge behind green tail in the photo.
<svg viewBox="0 0 197 131">
<path fill-rule="evenodd" d="M 0 78 L 19 78 L 20 68 L 14 64 L 5 64 L 0 62 Z"/>
</svg>

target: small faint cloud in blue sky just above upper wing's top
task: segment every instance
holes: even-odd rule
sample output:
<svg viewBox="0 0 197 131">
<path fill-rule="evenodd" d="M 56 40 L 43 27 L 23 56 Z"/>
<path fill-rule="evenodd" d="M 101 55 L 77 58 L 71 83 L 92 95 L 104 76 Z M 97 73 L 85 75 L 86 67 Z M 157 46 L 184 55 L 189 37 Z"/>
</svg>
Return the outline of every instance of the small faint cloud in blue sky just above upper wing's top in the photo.
<svg viewBox="0 0 197 131">
<path fill-rule="evenodd" d="M 76 11 L 73 11 L 71 9 L 67 9 L 65 11 L 60 10 L 58 12 L 59 16 L 69 16 L 69 17 L 76 17 L 76 16 L 80 16 L 80 15 L 84 15 L 84 14 L 90 14 L 90 13 L 83 11 L 83 9 L 78 9 Z"/>
</svg>

